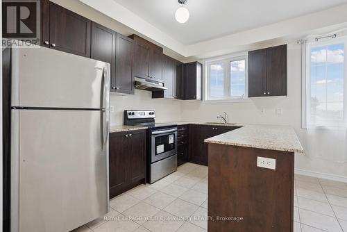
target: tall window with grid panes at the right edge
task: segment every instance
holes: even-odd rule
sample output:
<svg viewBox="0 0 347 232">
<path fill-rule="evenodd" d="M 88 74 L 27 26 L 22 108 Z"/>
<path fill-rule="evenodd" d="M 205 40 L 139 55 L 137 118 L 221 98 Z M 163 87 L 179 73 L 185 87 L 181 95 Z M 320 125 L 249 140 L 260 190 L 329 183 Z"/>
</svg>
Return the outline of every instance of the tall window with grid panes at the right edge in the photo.
<svg viewBox="0 0 347 232">
<path fill-rule="evenodd" d="M 346 42 L 307 46 L 307 126 L 346 126 Z"/>
</svg>

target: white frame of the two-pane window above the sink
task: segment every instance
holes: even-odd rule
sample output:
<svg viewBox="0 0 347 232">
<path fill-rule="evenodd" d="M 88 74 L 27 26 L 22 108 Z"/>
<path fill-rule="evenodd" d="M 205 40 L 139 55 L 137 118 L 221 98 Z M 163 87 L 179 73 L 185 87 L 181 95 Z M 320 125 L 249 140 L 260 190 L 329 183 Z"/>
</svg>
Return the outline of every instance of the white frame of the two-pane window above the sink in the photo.
<svg viewBox="0 0 347 232">
<path fill-rule="evenodd" d="M 245 95 L 244 97 L 230 97 L 230 62 L 237 60 L 245 60 Z M 249 101 L 248 99 L 248 53 L 242 52 L 227 56 L 220 56 L 205 60 L 203 72 L 203 102 L 219 103 L 219 102 L 240 102 Z M 224 65 L 224 96 L 221 98 L 210 98 L 210 65 L 223 63 Z M 227 68 L 226 68 L 227 67 Z"/>
</svg>

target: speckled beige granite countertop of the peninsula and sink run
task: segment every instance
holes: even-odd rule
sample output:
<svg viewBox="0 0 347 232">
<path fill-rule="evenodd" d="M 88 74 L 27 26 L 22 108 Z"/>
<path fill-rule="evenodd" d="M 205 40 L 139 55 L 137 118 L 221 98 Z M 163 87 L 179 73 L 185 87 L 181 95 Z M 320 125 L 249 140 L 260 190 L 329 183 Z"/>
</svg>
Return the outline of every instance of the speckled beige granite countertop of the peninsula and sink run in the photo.
<svg viewBox="0 0 347 232">
<path fill-rule="evenodd" d="M 239 129 L 208 138 L 205 142 L 239 147 L 254 147 L 277 151 L 303 153 L 298 137 L 291 126 L 259 124 L 219 124 L 213 122 L 167 122 L 177 125 L 198 124 L 212 126 L 239 126 Z"/>
</svg>

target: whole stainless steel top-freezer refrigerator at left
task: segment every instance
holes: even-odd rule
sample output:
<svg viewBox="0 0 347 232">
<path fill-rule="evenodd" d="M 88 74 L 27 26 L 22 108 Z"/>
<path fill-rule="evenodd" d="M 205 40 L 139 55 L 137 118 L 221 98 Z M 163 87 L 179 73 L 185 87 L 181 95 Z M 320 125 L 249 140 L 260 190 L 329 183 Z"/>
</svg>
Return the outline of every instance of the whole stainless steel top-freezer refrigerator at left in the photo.
<svg viewBox="0 0 347 232">
<path fill-rule="evenodd" d="M 108 213 L 108 63 L 43 47 L 11 60 L 11 231 Z"/>
</svg>

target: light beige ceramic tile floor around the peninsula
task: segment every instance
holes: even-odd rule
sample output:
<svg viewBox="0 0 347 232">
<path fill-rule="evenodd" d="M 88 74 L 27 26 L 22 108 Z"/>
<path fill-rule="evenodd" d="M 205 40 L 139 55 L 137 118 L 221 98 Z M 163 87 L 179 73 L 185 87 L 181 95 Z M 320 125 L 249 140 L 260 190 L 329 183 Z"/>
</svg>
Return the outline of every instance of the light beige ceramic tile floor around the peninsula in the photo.
<svg viewBox="0 0 347 232">
<path fill-rule="evenodd" d="M 208 167 L 186 163 L 110 201 L 110 213 L 74 232 L 206 231 Z M 184 218 L 182 218 L 184 217 Z M 164 219 L 164 220 L 162 220 Z M 347 184 L 295 176 L 294 232 L 347 232 Z"/>
</svg>

